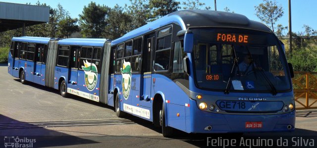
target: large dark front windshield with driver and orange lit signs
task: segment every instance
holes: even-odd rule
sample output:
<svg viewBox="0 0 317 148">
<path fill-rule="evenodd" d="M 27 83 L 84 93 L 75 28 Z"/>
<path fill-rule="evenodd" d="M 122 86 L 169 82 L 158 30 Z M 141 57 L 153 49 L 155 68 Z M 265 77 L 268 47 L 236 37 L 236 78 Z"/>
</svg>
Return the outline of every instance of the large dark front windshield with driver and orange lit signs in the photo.
<svg viewBox="0 0 317 148">
<path fill-rule="evenodd" d="M 285 54 L 273 34 L 224 28 L 192 31 L 198 88 L 273 94 L 291 89 Z"/>
</svg>

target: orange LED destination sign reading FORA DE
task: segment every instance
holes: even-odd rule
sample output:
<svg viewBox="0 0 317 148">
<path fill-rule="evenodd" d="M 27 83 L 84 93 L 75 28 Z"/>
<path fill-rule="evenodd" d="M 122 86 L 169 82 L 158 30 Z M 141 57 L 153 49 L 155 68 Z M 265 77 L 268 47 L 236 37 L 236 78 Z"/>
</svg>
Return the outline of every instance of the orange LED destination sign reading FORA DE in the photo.
<svg viewBox="0 0 317 148">
<path fill-rule="evenodd" d="M 247 35 L 235 35 L 235 34 L 217 34 L 217 41 L 222 42 L 234 42 L 234 43 L 248 43 L 249 36 Z"/>
</svg>

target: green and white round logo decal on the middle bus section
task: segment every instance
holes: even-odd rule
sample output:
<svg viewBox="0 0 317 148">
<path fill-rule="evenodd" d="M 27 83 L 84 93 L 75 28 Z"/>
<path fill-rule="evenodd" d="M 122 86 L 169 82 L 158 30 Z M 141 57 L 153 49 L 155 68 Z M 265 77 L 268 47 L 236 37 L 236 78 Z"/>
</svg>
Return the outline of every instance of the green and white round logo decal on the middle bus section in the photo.
<svg viewBox="0 0 317 148">
<path fill-rule="evenodd" d="M 87 61 L 84 61 L 84 66 L 81 66 L 82 69 L 84 69 L 85 71 L 85 85 L 86 88 L 89 91 L 93 91 L 97 85 L 97 80 L 98 80 L 98 76 L 97 76 L 97 66 L 94 63 L 90 63 Z"/>
</svg>

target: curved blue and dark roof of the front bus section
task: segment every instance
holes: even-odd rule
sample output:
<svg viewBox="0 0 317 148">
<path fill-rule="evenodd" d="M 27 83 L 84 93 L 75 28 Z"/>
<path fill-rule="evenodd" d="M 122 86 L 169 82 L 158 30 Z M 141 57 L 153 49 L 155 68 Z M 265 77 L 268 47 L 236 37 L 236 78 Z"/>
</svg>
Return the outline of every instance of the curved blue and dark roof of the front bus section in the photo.
<svg viewBox="0 0 317 148">
<path fill-rule="evenodd" d="M 171 23 L 180 25 L 182 30 L 187 30 L 191 27 L 232 27 L 272 33 L 263 23 L 249 20 L 246 16 L 241 14 L 212 10 L 180 10 L 125 34 L 121 38 L 114 40 L 111 45 L 136 38 Z"/>
</svg>

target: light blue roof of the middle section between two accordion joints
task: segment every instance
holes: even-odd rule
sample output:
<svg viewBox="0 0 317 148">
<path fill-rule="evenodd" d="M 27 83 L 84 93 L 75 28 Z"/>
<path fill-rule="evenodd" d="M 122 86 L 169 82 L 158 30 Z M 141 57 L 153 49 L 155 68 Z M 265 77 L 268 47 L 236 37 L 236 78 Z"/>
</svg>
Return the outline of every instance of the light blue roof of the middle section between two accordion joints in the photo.
<svg viewBox="0 0 317 148">
<path fill-rule="evenodd" d="M 70 38 L 63 39 L 58 41 L 58 45 L 74 45 L 74 46 L 97 46 L 104 47 L 106 39 L 79 39 L 79 38 Z"/>
</svg>

